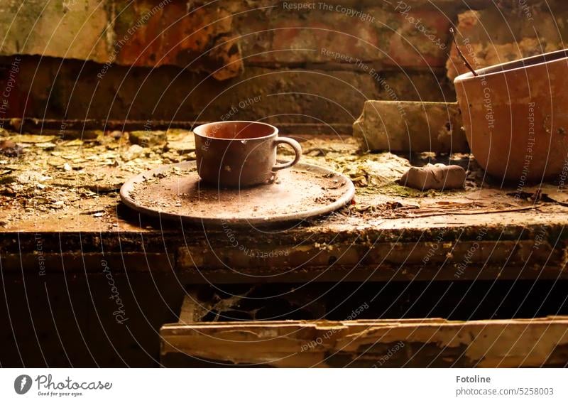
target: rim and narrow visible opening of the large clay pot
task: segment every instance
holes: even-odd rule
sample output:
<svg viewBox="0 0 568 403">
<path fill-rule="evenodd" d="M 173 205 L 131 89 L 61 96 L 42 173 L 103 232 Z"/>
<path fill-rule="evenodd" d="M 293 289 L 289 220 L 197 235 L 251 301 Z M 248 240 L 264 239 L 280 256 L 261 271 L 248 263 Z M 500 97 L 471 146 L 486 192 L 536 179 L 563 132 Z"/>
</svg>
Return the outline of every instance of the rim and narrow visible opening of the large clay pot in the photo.
<svg viewBox="0 0 568 403">
<path fill-rule="evenodd" d="M 540 60 L 540 61 L 538 61 Z M 548 53 L 541 53 L 540 55 L 529 56 L 528 58 L 521 58 L 518 60 L 512 60 L 506 63 L 498 63 L 496 65 L 491 65 L 486 68 L 480 68 L 475 70 L 477 75 L 473 72 L 465 72 L 464 74 L 458 75 L 454 79 L 455 82 L 464 82 L 471 80 L 481 80 L 484 77 L 491 77 L 494 75 L 505 75 L 510 72 L 515 72 L 518 70 L 529 70 L 531 68 L 537 68 L 542 65 L 555 63 L 555 62 L 568 62 L 568 48 L 555 50 Z"/>
</svg>

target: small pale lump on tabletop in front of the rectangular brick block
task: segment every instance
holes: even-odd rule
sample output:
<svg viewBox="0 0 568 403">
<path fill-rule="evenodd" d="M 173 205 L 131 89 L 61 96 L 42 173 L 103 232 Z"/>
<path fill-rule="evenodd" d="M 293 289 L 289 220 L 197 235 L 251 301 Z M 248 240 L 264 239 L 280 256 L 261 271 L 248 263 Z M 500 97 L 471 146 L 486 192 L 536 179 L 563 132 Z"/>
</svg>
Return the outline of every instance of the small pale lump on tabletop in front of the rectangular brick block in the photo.
<svg viewBox="0 0 568 403">
<path fill-rule="evenodd" d="M 413 166 L 400 178 L 400 184 L 419 190 L 461 189 L 466 181 L 466 171 L 458 165 Z"/>
</svg>

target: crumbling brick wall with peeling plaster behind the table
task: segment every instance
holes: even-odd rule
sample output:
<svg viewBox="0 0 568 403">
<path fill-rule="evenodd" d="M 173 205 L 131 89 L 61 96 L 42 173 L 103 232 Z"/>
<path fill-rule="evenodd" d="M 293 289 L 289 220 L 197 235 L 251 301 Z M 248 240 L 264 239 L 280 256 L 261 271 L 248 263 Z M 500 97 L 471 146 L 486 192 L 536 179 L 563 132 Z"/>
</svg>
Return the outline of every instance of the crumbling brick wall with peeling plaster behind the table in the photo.
<svg viewBox="0 0 568 403">
<path fill-rule="evenodd" d="M 450 26 L 483 67 L 564 47 L 567 21 L 559 0 L 20 5 L 0 6 L 0 118 L 351 124 L 369 99 L 454 100 Z"/>
</svg>

